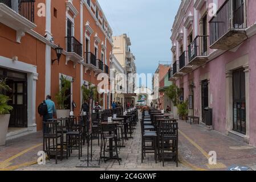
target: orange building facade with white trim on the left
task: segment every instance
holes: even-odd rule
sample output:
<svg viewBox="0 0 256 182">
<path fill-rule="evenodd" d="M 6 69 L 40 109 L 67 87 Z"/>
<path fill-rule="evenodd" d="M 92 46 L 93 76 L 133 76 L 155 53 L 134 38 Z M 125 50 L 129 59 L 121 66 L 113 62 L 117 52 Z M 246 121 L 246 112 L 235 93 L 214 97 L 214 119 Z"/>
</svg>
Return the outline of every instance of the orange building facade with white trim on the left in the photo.
<svg viewBox="0 0 256 182">
<path fill-rule="evenodd" d="M 14 107 L 9 127 L 42 130 L 37 107 L 48 94 L 56 104 L 63 76 L 71 82 L 68 109 L 79 114 L 81 87 L 97 86 L 103 77 L 109 83 L 112 48 L 111 27 L 95 0 L 0 0 L 0 78 L 12 88 L 7 94 Z M 108 109 L 105 90 L 97 97 Z"/>
</svg>

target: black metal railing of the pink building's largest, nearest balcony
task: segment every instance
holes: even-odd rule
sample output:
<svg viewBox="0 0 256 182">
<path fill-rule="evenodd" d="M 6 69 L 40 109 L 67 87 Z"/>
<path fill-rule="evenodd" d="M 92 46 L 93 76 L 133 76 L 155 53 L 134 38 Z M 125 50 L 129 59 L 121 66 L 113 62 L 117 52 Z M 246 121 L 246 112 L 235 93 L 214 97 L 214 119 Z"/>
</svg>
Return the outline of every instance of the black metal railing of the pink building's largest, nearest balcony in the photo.
<svg viewBox="0 0 256 182">
<path fill-rule="evenodd" d="M 235 2 L 237 1 L 226 0 L 217 11 L 216 16 L 210 20 L 210 45 L 215 43 L 230 29 L 246 28 L 243 1 L 240 5 L 235 5 Z"/>
</svg>

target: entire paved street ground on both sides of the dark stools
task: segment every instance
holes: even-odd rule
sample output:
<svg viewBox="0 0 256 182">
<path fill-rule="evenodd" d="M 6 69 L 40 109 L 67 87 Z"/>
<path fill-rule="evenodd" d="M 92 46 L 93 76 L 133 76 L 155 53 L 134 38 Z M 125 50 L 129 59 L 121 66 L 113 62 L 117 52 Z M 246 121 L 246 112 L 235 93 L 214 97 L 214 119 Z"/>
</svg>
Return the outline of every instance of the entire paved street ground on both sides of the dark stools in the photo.
<svg viewBox="0 0 256 182">
<path fill-rule="evenodd" d="M 133 134 L 133 139 L 125 142 L 126 147 L 121 148 L 121 166 L 116 160 L 107 163 L 101 162 L 101 168 L 76 168 L 86 166 L 81 160 L 86 159 L 87 147 L 83 147 L 83 157 L 78 159 L 77 151 L 71 158 L 46 161 L 46 165 L 37 164 L 37 153 L 42 150 L 42 132 L 26 135 L 24 137 L 7 141 L 7 145 L 0 147 L 1 170 L 226 170 L 234 164 L 250 167 L 256 170 L 256 148 L 239 142 L 217 131 L 208 131 L 204 126 L 190 125 L 179 121 L 179 167 L 173 161 L 155 163 L 153 155 L 148 154 L 141 164 L 141 137 L 140 125 Z M 94 160 L 98 159 L 99 147 L 94 140 Z M 217 165 L 209 165 L 209 151 L 216 151 Z M 97 164 L 97 162 L 92 162 Z M 34 164 L 34 165 L 32 165 Z"/>
</svg>

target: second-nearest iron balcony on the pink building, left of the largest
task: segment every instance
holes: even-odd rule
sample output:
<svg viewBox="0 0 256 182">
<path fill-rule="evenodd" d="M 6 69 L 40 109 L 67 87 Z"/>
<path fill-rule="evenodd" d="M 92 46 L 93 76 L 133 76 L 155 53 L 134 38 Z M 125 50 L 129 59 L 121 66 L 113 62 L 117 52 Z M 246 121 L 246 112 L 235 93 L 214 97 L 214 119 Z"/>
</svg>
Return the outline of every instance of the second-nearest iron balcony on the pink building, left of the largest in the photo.
<svg viewBox="0 0 256 182">
<path fill-rule="evenodd" d="M 207 35 L 196 36 L 188 46 L 189 65 L 204 65 L 208 60 L 208 37 Z"/>
</svg>

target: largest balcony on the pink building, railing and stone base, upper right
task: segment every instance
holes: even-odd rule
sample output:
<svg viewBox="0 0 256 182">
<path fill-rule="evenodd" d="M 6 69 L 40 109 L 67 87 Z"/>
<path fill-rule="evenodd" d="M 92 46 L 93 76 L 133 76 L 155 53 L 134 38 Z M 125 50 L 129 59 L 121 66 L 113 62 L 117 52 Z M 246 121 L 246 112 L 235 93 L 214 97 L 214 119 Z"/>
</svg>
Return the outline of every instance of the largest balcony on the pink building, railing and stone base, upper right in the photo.
<svg viewBox="0 0 256 182">
<path fill-rule="evenodd" d="M 244 0 L 226 0 L 210 20 L 210 48 L 229 50 L 247 39 Z"/>
</svg>

